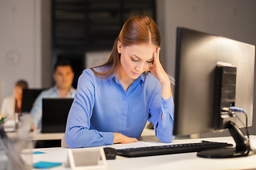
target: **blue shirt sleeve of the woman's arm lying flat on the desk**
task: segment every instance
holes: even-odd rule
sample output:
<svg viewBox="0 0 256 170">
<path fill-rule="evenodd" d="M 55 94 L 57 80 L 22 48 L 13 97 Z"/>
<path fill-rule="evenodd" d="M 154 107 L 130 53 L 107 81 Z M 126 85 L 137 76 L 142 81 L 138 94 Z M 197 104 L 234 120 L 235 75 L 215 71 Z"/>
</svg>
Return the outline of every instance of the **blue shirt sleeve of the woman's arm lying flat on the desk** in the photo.
<svg viewBox="0 0 256 170">
<path fill-rule="evenodd" d="M 70 148 L 112 145 L 112 132 L 99 132 L 91 123 L 95 104 L 95 75 L 86 69 L 78 80 L 78 89 L 70 108 L 65 130 L 65 143 Z"/>
</svg>

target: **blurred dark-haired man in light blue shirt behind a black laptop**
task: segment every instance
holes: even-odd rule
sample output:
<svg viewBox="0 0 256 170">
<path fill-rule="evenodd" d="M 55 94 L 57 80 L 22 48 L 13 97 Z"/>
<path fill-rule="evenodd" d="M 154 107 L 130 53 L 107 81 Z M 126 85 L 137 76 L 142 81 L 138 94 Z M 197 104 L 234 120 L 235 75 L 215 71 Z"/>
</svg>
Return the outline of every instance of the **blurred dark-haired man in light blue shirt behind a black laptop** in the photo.
<svg viewBox="0 0 256 170">
<path fill-rule="evenodd" d="M 68 60 L 59 60 L 54 65 L 53 78 L 55 86 L 42 91 L 36 98 L 31 115 L 33 115 L 32 129 L 41 129 L 42 122 L 42 99 L 43 98 L 74 98 L 75 89 L 72 86 L 74 72 Z"/>
</svg>

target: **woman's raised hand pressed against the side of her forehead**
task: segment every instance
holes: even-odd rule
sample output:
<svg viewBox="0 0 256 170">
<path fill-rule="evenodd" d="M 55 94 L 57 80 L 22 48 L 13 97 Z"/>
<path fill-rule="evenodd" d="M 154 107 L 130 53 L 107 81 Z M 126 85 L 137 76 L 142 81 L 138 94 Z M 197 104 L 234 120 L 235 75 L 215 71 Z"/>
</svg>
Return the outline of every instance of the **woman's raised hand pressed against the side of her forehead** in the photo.
<svg viewBox="0 0 256 170">
<path fill-rule="evenodd" d="M 156 51 L 153 53 L 154 62 L 151 65 L 151 67 L 149 67 L 149 70 L 151 74 L 153 74 L 154 77 L 156 77 L 156 79 L 159 79 L 161 84 L 166 84 L 166 83 L 170 84 L 171 81 L 160 63 L 159 52 L 160 52 L 160 47 L 157 47 Z"/>
</svg>

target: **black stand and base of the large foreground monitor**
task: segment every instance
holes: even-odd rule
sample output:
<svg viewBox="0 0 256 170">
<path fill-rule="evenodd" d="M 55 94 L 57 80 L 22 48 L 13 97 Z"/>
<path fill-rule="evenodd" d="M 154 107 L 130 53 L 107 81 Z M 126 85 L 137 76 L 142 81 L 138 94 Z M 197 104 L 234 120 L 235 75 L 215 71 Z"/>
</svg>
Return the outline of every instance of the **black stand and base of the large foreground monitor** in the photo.
<svg viewBox="0 0 256 170">
<path fill-rule="evenodd" d="M 247 157 L 255 154 L 255 149 L 250 146 L 250 141 L 242 134 L 238 126 L 232 121 L 225 124 L 230 134 L 235 140 L 235 147 L 227 147 L 220 149 L 208 149 L 197 153 L 198 157 L 203 158 L 233 158 L 233 157 Z"/>
</svg>

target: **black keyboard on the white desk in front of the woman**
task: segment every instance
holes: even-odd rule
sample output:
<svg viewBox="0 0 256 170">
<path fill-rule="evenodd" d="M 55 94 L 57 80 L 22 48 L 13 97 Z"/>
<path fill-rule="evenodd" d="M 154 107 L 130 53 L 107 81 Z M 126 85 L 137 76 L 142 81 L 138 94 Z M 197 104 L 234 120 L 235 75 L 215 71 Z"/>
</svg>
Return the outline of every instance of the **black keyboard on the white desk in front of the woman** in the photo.
<svg viewBox="0 0 256 170">
<path fill-rule="evenodd" d="M 205 149 L 217 149 L 223 147 L 232 147 L 232 144 L 226 142 L 201 141 L 198 143 L 161 145 L 154 147 L 135 147 L 127 149 L 117 149 L 117 155 L 123 157 L 146 157 L 162 154 L 180 154 L 187 152 L 199 152 Z"/>
</svg>

